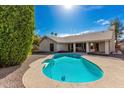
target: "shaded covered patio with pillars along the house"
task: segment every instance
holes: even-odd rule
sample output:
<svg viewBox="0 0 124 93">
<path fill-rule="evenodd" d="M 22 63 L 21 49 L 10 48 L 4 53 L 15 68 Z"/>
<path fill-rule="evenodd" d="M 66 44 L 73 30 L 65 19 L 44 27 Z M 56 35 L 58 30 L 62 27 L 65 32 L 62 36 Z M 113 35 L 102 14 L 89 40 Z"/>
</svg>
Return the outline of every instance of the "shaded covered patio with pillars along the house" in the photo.
<svg viewBox="0 0 124 93">
<path fill-rule="evenodd" d="M 109 41 L 93 41 L 82 43 L 69 43 L 69 52 L 105 53 L 109 54 Z"/>
</svg>

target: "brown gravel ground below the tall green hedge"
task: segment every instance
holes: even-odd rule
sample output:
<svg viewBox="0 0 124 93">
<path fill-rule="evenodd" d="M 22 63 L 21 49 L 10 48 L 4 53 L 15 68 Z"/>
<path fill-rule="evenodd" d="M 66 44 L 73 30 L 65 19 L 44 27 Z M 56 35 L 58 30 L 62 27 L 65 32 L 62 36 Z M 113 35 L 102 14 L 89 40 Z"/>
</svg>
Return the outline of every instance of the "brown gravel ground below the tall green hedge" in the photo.
<svg viewBox="0 0 124 93">
<path fill-rule="evenodd" d="M 46 57 L 47 55 L 33 54 L 29 56 L 22 65 L 8 68 L 0 68 L 0 87 L 3 88 L 24 88 L 22 77 L 33 61 Z"/>
</svg>

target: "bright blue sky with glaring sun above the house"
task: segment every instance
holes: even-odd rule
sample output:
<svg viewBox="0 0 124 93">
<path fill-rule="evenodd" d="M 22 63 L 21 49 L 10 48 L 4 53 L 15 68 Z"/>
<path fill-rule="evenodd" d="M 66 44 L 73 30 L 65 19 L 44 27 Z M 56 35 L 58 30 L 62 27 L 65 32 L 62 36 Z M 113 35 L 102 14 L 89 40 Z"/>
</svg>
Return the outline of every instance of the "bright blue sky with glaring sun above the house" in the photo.
<svg viewBox="0 0 124 93">
<path fill-rule="evenodd" d="M 35 32 L 40 36 L 51 32 L 67 36 L 104 31 L 116 17 L 124 22 L 124 6 L 39 5 L 35 6 Z"/>
</svg>

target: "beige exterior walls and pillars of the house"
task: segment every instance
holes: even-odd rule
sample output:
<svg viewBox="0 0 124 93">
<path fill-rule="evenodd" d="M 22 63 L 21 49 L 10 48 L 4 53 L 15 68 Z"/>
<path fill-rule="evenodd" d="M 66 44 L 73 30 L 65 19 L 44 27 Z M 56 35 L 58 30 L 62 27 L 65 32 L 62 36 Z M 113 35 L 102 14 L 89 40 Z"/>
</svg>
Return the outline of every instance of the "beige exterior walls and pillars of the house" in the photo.
<svg viewBox="0 0 124 93">
<path fill-rule="evenodd" d="M 111 30 L 110 30 L 111 31 Z M 50 43 L 54 44 L 54 52 L 57 51 L 68 51 L 68 44 L 57 43 L 49 38 L 44 38 L 43 41 L 40 43 L 40 50 L 41 51 L 50 51 Z M 75 46 L 73 44 L 73 46 Z M 75 49 L 73 50 L 75 51 Z M 90 51 L 90 43 L 86 42 L 86 52 Z M 113 31 L 112 39 L 109 41 L 99 42 L 99 52 L 109 54 L 111 52 L 115 52 L 115 34 Z"/>
</svg>

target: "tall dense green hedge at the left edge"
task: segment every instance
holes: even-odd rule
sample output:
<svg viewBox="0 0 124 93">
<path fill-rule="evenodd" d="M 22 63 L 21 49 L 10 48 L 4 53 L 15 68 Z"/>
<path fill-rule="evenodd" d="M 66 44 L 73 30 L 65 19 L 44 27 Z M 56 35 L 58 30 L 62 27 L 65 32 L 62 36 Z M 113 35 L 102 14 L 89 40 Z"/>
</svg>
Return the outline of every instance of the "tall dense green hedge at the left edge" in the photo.
<svg viewBox="0 0 124 93">
<path fill-rule="evenodd" d="M 0 6 L 0 66 L 22 63 L 34 36 L 34 6 Z"/>
</svg>

